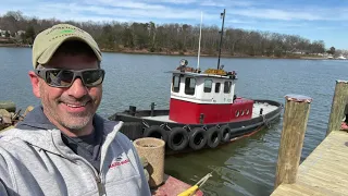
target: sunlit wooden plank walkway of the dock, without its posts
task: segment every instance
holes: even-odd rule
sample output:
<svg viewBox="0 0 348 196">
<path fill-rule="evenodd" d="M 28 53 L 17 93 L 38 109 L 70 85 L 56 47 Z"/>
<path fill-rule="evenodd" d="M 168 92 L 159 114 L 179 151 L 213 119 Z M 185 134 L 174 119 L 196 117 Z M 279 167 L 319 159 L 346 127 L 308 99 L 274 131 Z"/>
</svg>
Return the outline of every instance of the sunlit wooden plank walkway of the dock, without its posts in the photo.
<svg viewBox="0 0 348 196">
<path fill-rule="evenodd" d="M 348 133 L 333 131 L 300 164 L 296 183 L 272 196 L 348 195 Z"/>
</svg>

